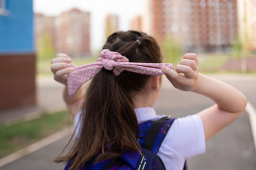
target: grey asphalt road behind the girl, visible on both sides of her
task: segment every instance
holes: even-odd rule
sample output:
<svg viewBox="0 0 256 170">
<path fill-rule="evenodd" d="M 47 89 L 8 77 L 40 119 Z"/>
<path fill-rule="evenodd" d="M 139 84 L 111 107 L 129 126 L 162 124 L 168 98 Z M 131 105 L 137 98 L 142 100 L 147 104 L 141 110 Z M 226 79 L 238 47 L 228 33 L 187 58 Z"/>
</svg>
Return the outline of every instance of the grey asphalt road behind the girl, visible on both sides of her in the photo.
<svg viewBox="0 0 256 170">
<path fill-rule="evenodd" d="M 223 78 L 227 83 L 241 90 L 248 100 L 256 106 L 256 78 Z M 43 88 L 44 86 L 42 86 Z M 47 87 L 49 89 L 49 87 Z M 55 95 L 55 94 L 54 94 Z M 56 94 L 58 95 L 58 94 Z M 184 117 L 198 113 L 214 104 L 207 97 L 192 92 L 182 92 L 172 88 L 164 81 L 164 89 L 156 103 L 159 115 Z M 54 157 L 67 144 L 68 137 L 51 145 L 0 167 L 0 170 L 13 169 L 63 169 L 63 164 L 52 163 Z M 172 165 L 170 165 L 172 166 Z M 255 170 L 256 157 L 253 146 L 252 132 L 248 115 L 243 113 L 235 122 L 223 131 L 209 139 L 206 143 L 206 153 L 188 160 L 189 169 L 226 169 L 226 170 Z"/>
</svg>

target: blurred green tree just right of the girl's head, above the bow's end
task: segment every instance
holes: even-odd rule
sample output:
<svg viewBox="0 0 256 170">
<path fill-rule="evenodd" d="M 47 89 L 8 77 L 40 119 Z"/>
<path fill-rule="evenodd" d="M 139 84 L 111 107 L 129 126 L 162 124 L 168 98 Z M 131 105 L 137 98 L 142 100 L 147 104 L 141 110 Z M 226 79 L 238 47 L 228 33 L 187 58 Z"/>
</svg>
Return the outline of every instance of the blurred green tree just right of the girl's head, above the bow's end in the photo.
<svg viewBox="0 0 256 170">
<path fill-rule="evenodd" d="M 173 38 L 166 38 L 162 42 L 164 62 L 170 62 L 174 65 L 178 64 L 182 57 L 182 45 L 179 41 Z"/>
</svg>

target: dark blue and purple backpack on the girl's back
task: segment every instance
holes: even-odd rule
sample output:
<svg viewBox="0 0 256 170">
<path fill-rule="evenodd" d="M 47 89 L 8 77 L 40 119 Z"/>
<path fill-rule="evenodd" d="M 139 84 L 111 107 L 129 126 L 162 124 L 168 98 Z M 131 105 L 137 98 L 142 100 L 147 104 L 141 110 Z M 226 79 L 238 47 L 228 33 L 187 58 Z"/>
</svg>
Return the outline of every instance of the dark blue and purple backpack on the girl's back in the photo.
<svg viewBox="0 0 256 170">
<path fill-rule="evenodd" d="M 86 162 L 81 170 L 93 169 L 100 170 L 118 169 L 118 170 L 164 170 L 163 161 L 156 154 L 163 142 L 164 136 L 168 129 L 172 126 L 175 118 L 163 117 L 156 121 L 147 121 L 139 125 L 138 128 L 138 143 L 141 146 L 141 153 L 134 151 L 126 151 L 117 159 L 109 159 L 93 164 L 93 159 Z M 115 161 L 115 162 L 114 162 Z M 110 165 L 110 166 L 109 166 Z M 68 170 L 70 161 L 67 162 L 64 170 Z M 187 169 L 186 162 L 184 170 Z"/>
</svg>

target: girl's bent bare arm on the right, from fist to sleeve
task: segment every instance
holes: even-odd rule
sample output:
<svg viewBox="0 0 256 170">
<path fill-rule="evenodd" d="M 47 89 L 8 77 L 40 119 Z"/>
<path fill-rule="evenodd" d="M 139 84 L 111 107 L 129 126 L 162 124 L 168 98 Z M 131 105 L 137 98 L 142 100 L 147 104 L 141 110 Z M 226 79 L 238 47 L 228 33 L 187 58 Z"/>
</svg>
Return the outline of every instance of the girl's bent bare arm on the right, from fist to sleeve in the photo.
<svg viewBox="0 0 256 170">
<path fill-rule="evenodd" d="M 205 140 L 236 120 L 246 107 L 246 97 L 234 87 L 198 73 L 194 53 L 186 53 L 176 71 L 164 66 L 162 71 L 177 89 L 202 94 L 216 103 L 196 114 L 204 125 Z"/>
</svg>

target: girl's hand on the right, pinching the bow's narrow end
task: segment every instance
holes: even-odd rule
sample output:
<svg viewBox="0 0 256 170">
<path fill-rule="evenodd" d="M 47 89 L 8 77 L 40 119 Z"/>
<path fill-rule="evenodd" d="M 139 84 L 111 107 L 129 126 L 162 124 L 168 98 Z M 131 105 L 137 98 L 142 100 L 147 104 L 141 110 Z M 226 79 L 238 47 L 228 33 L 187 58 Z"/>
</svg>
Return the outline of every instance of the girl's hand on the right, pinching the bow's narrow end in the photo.
<svg viewBox="0 0 256 170">
<path fill-rule="evenodd" d="M 198 86 L 198 60 L 195 53 L 186 53 L 175 67 L 176 71 L 163 66 L 161 70 L 172 85 L 183 91 L 194 91 Z"/>
</svg>

